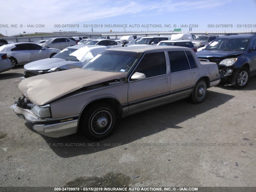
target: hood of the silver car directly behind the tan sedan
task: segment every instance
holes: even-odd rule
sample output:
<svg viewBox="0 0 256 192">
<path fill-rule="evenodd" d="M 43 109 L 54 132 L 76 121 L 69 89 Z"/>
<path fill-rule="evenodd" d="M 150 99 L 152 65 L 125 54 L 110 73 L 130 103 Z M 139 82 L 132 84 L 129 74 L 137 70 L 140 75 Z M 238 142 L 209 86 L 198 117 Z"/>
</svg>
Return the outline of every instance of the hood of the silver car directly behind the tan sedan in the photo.
<svg viewBox="0 0 256 192">
<path fill-rule="evenodd" d="M 61 58 L 47 58 L 47 59 L 41 59 L 41 60 L 30 62 L 24 65 L 24 69 L 25 70 L 47 70 L 47 69 L 55 69 L 63 65 L 70 65 L 71 68 L 74 68 L 72 67 L 73 65 L 74 66 L 79 65 L 80 68 L 82 68 L 82 62 L 79 62 L 79 61 L 66 61 L 65 59 L 61 59 Z"/>
</svg>

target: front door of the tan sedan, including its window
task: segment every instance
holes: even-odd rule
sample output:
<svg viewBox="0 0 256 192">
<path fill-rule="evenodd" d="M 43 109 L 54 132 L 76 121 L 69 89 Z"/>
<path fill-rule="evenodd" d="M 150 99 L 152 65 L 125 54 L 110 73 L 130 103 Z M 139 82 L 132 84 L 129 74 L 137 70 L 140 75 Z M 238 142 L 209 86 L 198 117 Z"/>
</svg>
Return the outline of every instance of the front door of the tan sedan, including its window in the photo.
<svg viewBox="0 0 256 192">
<path fill-rule="evenodd" d="M 134 72 L 145 74 L 146 78 L 128 83 L 129 114 L 164 104 L 170 98 L 170 73 L 167 73 L 165 52 L 144 54 Z"/>
</svg>

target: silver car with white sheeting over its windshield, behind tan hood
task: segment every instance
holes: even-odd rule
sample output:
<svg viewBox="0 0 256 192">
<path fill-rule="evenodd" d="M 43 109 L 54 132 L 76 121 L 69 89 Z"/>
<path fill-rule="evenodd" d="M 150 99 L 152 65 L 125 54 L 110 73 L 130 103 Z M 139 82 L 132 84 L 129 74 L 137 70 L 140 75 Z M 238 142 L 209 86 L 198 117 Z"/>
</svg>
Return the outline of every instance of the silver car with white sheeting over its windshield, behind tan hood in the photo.
<svg viewBox="0 0 256 192">
<path fill-rule="evenodd" d="M 82 68 L 84 64 L 103 52 L 106 46 L 76 45 L 65 48 L 52 58 L 41 59 L 24 65 L 25 78 L 56 71 Z"/>
</svg>

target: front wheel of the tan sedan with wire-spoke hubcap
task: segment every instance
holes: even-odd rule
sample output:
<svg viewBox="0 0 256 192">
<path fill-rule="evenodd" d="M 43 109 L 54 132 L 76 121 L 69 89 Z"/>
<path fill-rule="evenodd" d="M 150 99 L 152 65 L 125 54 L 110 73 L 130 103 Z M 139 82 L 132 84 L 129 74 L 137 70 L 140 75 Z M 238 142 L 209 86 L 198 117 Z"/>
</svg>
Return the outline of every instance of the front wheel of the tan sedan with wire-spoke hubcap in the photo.
<svg viewBox="0 0 256 192">
<path fill-rule="evenodd" d="M 96 104 L 84 114 L 81 131 L 90 140 L 102 140 L 114 130 L 116 119 L 116 111 L 109 104 Z"/>
</svg>

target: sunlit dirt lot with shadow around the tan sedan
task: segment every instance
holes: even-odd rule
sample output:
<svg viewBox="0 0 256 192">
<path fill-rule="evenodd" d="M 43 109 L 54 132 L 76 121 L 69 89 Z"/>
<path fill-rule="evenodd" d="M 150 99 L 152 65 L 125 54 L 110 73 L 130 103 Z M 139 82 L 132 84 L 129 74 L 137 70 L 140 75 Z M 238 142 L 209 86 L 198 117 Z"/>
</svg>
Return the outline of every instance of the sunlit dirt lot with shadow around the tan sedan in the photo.
<svg viewBox="0 0 256 192">
<path fill-rule="evenodd" d="M 42 136 L 9 109 L 23 72 L 0 74 L 0 186 L 256 186 L 256 77 L 119 119 L 92 142 Z"/>
</svg>

